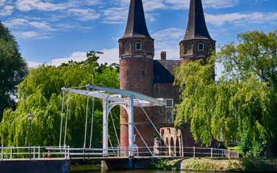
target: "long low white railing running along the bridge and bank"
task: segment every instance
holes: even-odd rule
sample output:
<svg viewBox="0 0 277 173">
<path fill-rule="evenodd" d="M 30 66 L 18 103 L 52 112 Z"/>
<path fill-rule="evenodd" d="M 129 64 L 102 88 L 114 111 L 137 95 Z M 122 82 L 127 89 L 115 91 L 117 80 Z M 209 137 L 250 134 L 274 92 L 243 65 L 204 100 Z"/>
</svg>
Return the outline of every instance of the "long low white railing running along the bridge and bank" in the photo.
<svg viewBox="0 0 277 173">
<path fill-rule="evenodd" d="M 109 148 L 70 148 L 64 147 L 0 147 L 1 160 L 12 158 L 69 158 L 69 157 L 96 157 L 109 156 L 120 157 L 129 156 L 129 149 Z M 238 158 L 237 152 L 231 152 L 230 149 L 215 149 L 204 147 L 136 147 L 134 150 L 135 157 L 152 156 L 152 157 L 226 157 Z"/>
</svg>

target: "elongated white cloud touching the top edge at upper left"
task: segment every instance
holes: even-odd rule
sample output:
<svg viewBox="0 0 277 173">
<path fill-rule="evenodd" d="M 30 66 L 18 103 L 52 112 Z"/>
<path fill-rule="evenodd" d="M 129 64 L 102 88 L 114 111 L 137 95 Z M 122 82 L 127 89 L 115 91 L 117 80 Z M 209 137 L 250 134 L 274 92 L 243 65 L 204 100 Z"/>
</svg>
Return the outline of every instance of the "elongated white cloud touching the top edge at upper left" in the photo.
<svg viewBox="0 0 277 173">
<path fill-rule="evenodd" d="M 15 2 L 17 9 L 27 12 L 30 10 L 55 11 L 65 9 L 65 4 L 44 3 L 41 0 L 17 0 Z"/>
</svg>

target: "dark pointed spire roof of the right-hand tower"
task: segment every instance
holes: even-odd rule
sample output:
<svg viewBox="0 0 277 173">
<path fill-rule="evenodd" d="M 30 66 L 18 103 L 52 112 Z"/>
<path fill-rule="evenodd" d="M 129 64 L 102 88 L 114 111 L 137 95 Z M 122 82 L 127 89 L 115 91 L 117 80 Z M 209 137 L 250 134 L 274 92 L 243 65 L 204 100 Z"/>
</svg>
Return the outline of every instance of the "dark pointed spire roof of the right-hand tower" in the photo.
<svg viewBox="0 0 277 173">
<path fill-rule="evenodd" d="M 208 33 L 201 0 L 190 0 L 188 26 L 183 40 L 212 39 Z"/>
</svg>

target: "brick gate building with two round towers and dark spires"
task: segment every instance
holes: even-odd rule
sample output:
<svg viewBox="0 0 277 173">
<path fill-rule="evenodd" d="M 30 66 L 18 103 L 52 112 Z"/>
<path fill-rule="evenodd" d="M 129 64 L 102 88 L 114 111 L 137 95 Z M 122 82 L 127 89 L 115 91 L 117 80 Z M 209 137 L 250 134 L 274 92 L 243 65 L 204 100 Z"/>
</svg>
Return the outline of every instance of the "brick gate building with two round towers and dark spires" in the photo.
<svg viewBox="0 0 277 173">
<path fill-rule="evenodd" d="M 130 1 L 125 34 L 118 40 L 118 43 L 120 89 L 136 91 L 154 98 L 166 98 L 166 107 L 148 108 L 147 112 L 157 128 L 173 127 L 175 117 L 172 109 L 174 104 L 179 103 L 178 88 L 172 86 L 174 66 L 186 65 L 187 62 L 193 60 L 206 60 L 215 51 L 215 41 L 206 27 L 202 1 L 190 0 L 188 26 L 184 39 L 179 43 L 181 60 L 166 60 L 165 52 L 161 53 L 161 60 L 153 60 L 154 39 L 148 33 L 142 0 Z M 128 146 L 127 122 L 127 113 L 124 109 L 120 109 L 120 147 Z M 134 109 L 134 123 L 146 140 L 145 142 L 152 146 L 154 127 L 150 125 L 139 108 Z M 139 138 L 139 135 L 137 136 L 136 145 L 144 146 L 143 140 Z M 184 140 L 190 137 L 189 129 L 184 128 Z M 184 140 L 184 146 L 190 145 Z"/>
</svg>

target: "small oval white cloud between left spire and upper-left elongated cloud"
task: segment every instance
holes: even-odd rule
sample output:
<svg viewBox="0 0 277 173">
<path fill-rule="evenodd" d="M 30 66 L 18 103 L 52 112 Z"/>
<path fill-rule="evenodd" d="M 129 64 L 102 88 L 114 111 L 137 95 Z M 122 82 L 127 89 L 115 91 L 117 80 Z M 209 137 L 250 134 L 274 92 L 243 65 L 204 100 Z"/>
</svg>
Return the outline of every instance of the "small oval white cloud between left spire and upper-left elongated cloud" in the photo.
<svg viewBox="0 0 277 173">
<path fill-rule="evenodd" d="M 81 21 L 95 20 L 100 17 L 100 14 L 93 9 L 80 9 L 80 8 L 71 8 L 69 9 L 71 15 L 79 17 Z"/>
</svg>

